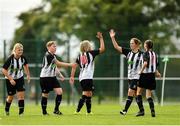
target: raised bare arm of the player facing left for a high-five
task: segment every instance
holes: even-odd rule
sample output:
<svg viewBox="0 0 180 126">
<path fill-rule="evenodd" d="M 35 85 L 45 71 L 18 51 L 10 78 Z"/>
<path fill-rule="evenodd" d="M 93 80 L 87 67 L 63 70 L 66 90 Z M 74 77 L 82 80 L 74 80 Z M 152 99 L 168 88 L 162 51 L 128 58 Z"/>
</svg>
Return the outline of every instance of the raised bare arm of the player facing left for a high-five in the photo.
<svg viewBox="0 0 180 126">
<path fill-rule="evenodd" d="M 113 46 L 118 52 L 122 53 L 122 47 L 117 44 L 116 39 L 115 39 L 115 34 L 116 33 L 114 32 L 114 30 L 111 29 L 110 32 L 109 32 L 109 35 L 111 37 Z"/>
</svg>

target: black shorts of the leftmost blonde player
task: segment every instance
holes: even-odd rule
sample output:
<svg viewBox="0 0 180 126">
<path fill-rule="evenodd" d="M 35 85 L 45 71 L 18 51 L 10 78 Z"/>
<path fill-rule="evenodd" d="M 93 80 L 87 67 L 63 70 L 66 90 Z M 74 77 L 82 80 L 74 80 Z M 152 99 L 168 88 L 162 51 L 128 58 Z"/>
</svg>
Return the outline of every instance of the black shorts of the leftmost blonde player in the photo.
<svg viewBox="0 0 180 126">
<path fill-rule="evenodd" d="M 12 85 L 8 79 L 6 79 L 6 88 L 8 95 L 14 95 L 16 94 L 16 91 L 25 91 L 24 88 L 24 77 L 21 77 L 19 79 L 14 79 L 16 82 L 16 85 Z"/>
</svg>

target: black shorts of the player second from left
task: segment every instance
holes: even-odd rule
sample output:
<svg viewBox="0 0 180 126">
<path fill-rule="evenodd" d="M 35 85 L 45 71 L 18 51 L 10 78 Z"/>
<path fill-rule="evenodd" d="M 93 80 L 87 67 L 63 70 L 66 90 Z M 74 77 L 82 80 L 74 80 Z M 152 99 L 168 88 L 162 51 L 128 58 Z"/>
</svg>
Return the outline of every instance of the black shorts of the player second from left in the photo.
<svg viewBox="0 0 180 126">
<path fill-rule="evenodd" d="M 40 77 L 40 85 L 42 93 L 49 93 L 54 88 L 61 88 L 56 77 Z"/>
</svg>

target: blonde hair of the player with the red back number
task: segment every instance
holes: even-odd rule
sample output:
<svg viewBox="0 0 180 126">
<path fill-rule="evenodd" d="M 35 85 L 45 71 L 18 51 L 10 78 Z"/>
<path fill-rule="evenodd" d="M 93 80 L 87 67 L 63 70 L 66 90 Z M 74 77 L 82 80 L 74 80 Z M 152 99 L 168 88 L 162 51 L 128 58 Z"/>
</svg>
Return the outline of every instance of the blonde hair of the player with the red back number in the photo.
<svg viewBox="0 0 180 126">
<path fill-rule="evenodd" d="M 82 53 L 90 50 L 91 50 L 91 43 L 89 40 L 84 40 L 80 43 L 80 51 Z"/>
</svg>

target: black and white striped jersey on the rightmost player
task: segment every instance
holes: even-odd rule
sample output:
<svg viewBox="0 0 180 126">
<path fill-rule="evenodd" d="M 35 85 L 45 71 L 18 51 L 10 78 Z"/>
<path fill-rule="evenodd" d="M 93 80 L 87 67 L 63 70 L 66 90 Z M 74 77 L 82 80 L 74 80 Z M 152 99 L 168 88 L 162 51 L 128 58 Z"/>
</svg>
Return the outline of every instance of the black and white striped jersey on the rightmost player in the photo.
<svg viewBox="0 0 180 126">
<path fill-rule="evenodd" d="M 147 67 L 143 73 L 155 73 L 158 66 L 157 54 L 154 51 L 147 51 L 143 54 L 143 62 L 147 61 Z"/>
</svg>

